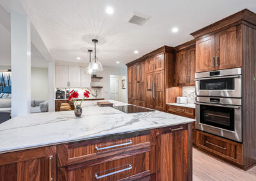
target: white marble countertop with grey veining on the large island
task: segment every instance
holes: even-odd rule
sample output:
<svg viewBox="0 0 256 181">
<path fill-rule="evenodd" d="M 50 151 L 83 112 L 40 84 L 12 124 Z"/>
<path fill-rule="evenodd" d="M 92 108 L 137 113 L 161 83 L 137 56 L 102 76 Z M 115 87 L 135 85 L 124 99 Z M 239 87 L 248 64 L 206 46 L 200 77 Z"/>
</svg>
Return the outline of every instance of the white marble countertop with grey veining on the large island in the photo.
<svg viewBox="0 0 256 181">
<path fill-rule="evenodd" d="M 97 101 L 84 101 L 82 107 L 81 118 L 76 118 L 74 111 L 67 111 L 33 113 L 3 122 L 0 124 L 0 153 L 195 121 L 158 111 L 124 113 L 112 107 L 97 106 Z"/>
</svg>

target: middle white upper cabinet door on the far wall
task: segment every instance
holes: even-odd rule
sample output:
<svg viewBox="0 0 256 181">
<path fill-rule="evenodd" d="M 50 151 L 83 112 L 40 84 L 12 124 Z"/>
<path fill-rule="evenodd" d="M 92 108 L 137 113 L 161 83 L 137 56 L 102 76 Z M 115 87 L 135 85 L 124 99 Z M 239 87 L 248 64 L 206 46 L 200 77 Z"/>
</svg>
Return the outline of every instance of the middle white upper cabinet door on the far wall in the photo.
<svg viewBox="0 0 256 181">
<path fill-rule="evenodd" d="M 68 66 L 69 87 L 81 87 L 81 68 L 77 66 Z"/>
</svg>

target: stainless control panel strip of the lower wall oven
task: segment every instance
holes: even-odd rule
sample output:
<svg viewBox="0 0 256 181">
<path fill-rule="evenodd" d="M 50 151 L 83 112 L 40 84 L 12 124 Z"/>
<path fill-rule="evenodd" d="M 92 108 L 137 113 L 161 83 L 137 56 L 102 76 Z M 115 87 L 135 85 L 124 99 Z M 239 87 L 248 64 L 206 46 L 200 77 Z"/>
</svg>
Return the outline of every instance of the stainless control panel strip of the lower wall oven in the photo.
<svg viewBox="0 0 256 181">
<path fill-rule="evenodd" d="M 219 99 L 220 102 L 219 103 L 211 102 L 211 99 Z M 236 105 L 236 106 L 242 105 L 241 98 L 196 97 L 196 102 L 213 103 L 213 104 L 220 104 L 220 105 Z"/>
</svg>

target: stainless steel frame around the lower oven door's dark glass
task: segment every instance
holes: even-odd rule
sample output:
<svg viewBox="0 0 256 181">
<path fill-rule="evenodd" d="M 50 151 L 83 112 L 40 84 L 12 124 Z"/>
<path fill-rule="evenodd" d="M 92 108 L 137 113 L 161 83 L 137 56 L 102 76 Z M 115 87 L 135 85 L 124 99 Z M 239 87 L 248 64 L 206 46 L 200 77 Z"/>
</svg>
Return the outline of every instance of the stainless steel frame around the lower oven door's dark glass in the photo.
<svg viewBox="0 0 256 181">
<path fill-rule="evenodd" d="M 234 131 L 200 123 L 200 105 L 196 104 L 196 129 L 216 134 L 223 138 L 242 142 L 242 107 L 234 110 Z"/>
</svg>

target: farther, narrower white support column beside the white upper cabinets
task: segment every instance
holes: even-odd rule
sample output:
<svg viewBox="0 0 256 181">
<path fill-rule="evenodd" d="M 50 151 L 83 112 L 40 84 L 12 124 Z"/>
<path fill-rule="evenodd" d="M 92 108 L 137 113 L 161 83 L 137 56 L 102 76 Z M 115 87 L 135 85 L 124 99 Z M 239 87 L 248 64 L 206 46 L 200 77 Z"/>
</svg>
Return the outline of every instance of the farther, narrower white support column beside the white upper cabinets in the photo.
<svg viewBox="0 0 256 181">
<path fill-rule="evenodd" d="M 49 112 L 55 112 L 55 62 L 48 62 Z"/>
</svg>

